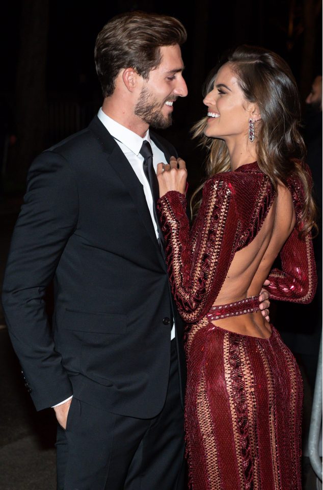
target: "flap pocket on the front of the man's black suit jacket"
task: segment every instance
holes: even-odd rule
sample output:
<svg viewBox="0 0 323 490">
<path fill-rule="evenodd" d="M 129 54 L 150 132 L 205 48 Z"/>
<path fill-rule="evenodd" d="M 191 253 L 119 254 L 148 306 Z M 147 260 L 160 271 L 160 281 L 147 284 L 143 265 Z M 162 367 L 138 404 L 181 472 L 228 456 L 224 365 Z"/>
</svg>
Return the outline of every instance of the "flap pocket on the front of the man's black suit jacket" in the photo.
<svg viewBox="0 0 323 490">
<path fill-rule="evenodd" d="M 63 328 L 75 332 L 110 333 L 121 335 L 127 332 L 127 315 L 119 313 L 89 313 L 66 308 Z"/>
</svg>

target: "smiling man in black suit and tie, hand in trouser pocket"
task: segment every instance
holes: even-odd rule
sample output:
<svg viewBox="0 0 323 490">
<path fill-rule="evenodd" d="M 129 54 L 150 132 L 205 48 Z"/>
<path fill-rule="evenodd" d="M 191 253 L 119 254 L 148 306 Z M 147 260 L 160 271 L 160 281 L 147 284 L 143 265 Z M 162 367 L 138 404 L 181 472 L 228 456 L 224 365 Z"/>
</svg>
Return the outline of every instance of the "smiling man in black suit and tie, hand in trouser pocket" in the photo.
<svg viewBox="0 0 323 490">
<path fill-rule="evenodd" d="M 185 39 L 163 15 L 108 22 L 95 47 L 98 116 L 30 169 L 3 303 L 36 408 L 55 407 L 65 490 L 183 488 L 183 332 L 152 173 L 176 152 L 149 125 L 169 126 L 187 94 Z"/>
</svg>

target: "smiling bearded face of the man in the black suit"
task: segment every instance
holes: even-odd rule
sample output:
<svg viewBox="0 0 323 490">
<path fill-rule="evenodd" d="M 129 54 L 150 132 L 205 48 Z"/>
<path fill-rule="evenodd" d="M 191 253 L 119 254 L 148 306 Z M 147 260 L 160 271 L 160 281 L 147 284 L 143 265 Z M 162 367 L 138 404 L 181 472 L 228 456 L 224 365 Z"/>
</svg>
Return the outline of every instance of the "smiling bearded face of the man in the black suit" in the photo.
<svg viewBox="0 0 323 490">
<path fill-rule="evenodd" d="M 187 95 L 187 87 L 179 45 L 162 46 L 160 54 L 162 62 L 143 81 L 134 113 L 150 126 L 164 129 L 172 124 L 173 103 Z"/>
</svg>

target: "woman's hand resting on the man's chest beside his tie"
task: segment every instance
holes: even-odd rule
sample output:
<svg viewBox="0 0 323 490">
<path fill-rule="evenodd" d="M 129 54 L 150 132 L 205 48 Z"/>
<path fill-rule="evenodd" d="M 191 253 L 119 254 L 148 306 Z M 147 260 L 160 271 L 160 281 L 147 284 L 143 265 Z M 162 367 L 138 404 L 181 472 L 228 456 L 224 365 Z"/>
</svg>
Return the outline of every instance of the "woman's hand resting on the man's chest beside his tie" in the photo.
<svg viewBox="0 0 323 490">
<path fill-rule="evenodd" d="M 159 184 L 159 197 L 169 190 L 177 190 L 185 194 L 187 170 L 184 160 L 171 157 L 170 164 L 158 163 L 157 179 Z"/>
</svg>

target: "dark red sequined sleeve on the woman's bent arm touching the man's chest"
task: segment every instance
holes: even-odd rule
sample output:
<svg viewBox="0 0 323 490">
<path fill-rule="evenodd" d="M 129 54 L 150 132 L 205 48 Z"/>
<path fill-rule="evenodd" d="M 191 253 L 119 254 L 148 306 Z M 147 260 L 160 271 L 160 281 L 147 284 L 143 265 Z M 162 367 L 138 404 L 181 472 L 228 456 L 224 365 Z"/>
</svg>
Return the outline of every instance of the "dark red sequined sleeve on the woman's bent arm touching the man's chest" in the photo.
<svg viewBox="0 0 323 490">
<path fill-rule="evenodd" d="M 170 191 L 158 200 L 171 289 L 187 323 L 207 313 L 233 259 L 239 235 L 233 193 L 221 175 L 208 181 L 191 232 L 183 194 Z"/>
</svg>

